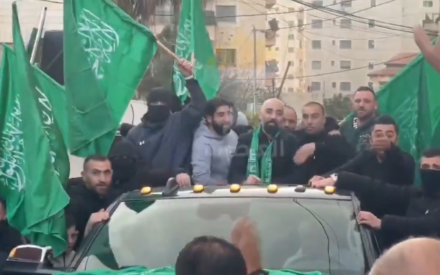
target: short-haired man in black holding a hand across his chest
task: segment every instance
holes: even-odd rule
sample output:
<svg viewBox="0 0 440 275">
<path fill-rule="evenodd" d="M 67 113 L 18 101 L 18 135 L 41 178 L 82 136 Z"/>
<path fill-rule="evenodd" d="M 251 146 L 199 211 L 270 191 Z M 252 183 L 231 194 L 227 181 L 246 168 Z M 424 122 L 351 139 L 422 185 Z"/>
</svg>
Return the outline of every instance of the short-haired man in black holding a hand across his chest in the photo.
<svg viewBox="0 0 440 275">
<path fill-rule="evenodd" d="M 322 175 L 344 164 L 354 155 L 354 149 L 342 135 L 329 135 L 325 129 L 325 111 L 322 104 L 309 102 L 303 107 L 304 129 L 296 131 L 300 148 L 294 161 L 302 165 L 305 177 Z"/>
</svg>

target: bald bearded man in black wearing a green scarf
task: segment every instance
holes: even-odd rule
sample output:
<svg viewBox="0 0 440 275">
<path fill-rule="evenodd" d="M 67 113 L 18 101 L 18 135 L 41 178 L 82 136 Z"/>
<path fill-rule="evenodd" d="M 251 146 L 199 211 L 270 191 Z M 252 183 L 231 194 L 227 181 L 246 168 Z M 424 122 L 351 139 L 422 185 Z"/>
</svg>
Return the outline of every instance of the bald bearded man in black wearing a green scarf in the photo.
<svg viewBox="0 0 440 275">
<path fill-rule="evenodd" d="M 271 98 L 263 103 L 259 113 L 260 126 L 240 135 L 232 157 L 228 181 L 230 184 L 296 184 L 298 169 L 293 157 L 296 139 L 283 127 L 284 104 Z M 306 179 L 307 180 L 307 179 Z"/>
</svg>

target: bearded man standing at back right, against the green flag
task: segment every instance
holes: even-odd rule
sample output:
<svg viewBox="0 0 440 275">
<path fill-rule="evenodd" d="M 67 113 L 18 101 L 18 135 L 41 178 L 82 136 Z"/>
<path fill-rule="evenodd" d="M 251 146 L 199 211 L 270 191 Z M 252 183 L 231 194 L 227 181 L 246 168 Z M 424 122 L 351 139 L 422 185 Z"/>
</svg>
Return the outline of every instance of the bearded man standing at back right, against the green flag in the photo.
<svg viewBox="0 0 440 275">
<path fill-rule="evenodd" d="M 369 148 L 371 128 L 376 115 L 376 94 L 369 87 L 359 87 L 353 96 L 356 117 L 342 122 L 340 133 L 356 151 Z"/>
</svg>

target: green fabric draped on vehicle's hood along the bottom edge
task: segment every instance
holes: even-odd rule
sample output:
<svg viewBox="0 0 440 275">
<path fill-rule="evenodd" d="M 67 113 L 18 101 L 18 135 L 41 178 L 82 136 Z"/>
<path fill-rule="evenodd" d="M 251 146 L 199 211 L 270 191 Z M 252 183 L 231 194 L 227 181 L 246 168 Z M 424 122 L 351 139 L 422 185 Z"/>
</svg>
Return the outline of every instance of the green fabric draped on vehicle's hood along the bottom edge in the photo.
<svg viewBox="0 0 440 275">
<path fill-rule="evenodd" d="M 267 270 L 270 275 L 327 275 L 322 272 L 296 272 L 294 270 Z M 162 267 L 157 269 L 148 269 L 146 267 L 130 267 L 126 270 L 91 270 L 85 272 L 73 272 L 73 273 L 63 273 L 58 272 L 55 275 L 64 275 L 64 274 L 72 274 L 72 275 L 147 275 L 147 274 L 155 274 L 155 275 L 175 275 L 174 268 L 172 267 Z"/>
</svg>

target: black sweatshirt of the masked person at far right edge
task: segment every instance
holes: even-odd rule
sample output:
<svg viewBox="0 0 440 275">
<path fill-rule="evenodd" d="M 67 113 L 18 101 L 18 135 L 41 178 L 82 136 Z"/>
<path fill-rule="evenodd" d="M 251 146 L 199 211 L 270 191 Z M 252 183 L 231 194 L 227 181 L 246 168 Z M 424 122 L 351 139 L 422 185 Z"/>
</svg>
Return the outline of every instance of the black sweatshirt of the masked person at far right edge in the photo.
<svg viewBox="0 0 440 275">
<path fill-rule="evenodd" d="M 376 217 L 384 213 L 380 235 L 386 246 L 410 236 L 440 237 L 439 192 L 424 192 L 419 186 L 395 186 L 347 172 L 338 174 L 336 188 L 375 198 L 375 209 L 370 212 Z M 401 212 L 404 214 L 396 214 Z"/>
</svg>

